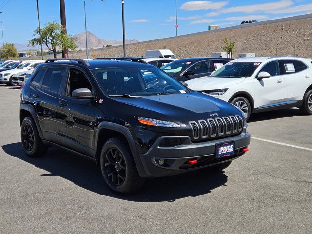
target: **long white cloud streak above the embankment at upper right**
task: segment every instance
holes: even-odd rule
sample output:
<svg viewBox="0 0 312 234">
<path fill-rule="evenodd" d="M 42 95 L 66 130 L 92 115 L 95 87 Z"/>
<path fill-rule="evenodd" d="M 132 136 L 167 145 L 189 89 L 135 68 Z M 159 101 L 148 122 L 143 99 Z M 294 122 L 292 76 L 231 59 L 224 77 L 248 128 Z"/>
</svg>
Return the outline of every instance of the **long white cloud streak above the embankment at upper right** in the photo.
<svg viewBox="0 0 312 234">
<path fill-rule="evenodd" d="M 254 4 L 254 5 L 244 5 L 244 6 L 234 6 L 229 8 L 221 9 L 217 12 L 210 12 L 205 16 L 216 16 L 222 13 L 234 13 L 234 12 L 244 12 L 244 13 L 254 13 L 254 12 L 272 12 L 275 13 L 277 10 L 282 9 L 291 9 L 293 5 L 292 0 L 280 0 L 263 4 Z"/>
</svg>

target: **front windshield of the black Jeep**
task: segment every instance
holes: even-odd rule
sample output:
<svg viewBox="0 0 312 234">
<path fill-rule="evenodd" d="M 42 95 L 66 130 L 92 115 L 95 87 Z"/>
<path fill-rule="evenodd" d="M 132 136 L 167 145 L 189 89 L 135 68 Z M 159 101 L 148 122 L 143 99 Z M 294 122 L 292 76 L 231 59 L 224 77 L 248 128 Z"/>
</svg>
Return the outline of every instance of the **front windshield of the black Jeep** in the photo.
<svg viewBox="0 0 312 234">
<path fill-rule="evenodd" d="M 93 69 L 104 93 L 109 96 L 141 97 L 189 92 L 176 79 L 154 67 Z"/>
</svg>

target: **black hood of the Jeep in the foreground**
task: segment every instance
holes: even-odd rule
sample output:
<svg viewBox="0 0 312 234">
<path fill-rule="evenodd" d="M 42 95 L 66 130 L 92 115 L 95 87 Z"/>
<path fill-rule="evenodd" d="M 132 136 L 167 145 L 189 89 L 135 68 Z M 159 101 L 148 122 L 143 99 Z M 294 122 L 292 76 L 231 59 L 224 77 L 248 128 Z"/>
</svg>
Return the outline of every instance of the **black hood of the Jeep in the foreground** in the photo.
<svg viewBox="0 0 312 234">
<path fill-rule="evenodd" d="M 127 104 L 118 108 L 120 112 L 127 112 L 129 115 L 137 117 L 182 123 L 217 116 L 241 115 L 240 111 L 232 104 L 199 92 L 113 99 Z"/>
</svg>

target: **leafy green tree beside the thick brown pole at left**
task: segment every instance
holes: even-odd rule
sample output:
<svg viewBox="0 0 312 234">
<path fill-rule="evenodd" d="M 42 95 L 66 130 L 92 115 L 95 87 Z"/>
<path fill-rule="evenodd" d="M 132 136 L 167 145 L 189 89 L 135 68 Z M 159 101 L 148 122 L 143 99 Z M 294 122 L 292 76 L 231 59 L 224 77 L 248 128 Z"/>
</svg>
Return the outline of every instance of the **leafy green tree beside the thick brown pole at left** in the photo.
<svg viewBox="0 0 312 234">
<path fill-rule="evenodd" d="M 46 45 L 49 51 L 53 52 L 54 58 L 57 58 L 58 48 L 60 48 L 61 51 L 64 49 L 75 50 L 77 48 L 76 37 L 69 34 L 63 34 L 62 30 L 63 26 L 56 20 L 53 22 L 47 22 L 41 30 L 42 43 Z M 33 36 L 36 37 L 28 41 L 28 46 L 39 46 L 39 28 L 34 31 Z"/>
</svg>

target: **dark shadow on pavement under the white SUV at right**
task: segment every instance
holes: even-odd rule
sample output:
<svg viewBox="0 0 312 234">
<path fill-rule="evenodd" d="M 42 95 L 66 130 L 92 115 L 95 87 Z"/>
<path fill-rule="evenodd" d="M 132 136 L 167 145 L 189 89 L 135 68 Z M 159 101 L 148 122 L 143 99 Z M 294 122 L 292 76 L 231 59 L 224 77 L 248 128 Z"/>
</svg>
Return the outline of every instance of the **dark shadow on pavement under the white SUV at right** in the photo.
<svg viewBox="0 0 312 234">
<path fill-rule="evenodd" d="M 292 116 L 303 116 L 304 114 L 298 108 L 289 108 L 289 109 L 282 109 L 276 111 L 268 111 L 268 112 L 261 112 L 255 113 L 249 118 L 249 123 L 258 122 L 263 120 L 270 120 L 276 118 L 286 118 Z"/>
</svg>

